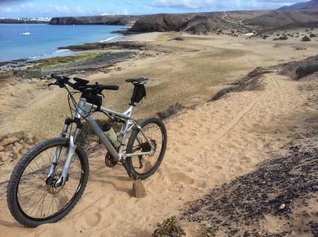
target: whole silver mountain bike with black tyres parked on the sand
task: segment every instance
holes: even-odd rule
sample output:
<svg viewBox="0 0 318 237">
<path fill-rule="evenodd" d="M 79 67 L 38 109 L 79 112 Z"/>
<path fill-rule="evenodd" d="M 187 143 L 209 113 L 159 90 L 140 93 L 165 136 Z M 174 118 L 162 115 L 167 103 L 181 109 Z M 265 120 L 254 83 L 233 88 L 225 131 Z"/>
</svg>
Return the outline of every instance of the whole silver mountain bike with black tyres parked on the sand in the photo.
<svg viewBox="0 0 318 237">
<path fill-rule="evenodd" d="M 140 122 L 132 119 L 135 104 L 146 95 L 148 78 L 126 80 L 134 89 L 127 111 L 121 113 L 102 105 L 103 91 L 116 91 L 118 86 L 89 84 L 78 77 L 73 78 L 75 82 L 62 75 L 51 77 L 56 80 L 48 86 L 67 89 L 71 117 L 65 120 L 59 138 L 50 138 L 33 146 L 12 171 L 8 182 L 8 207 L 15 220 L 27 227 L 57 222 L 82 196 L 89 176 L 87 154 L 78 144 L 83 120 L 107 149 L 107 166 L 122 164 L 128 176 L 134 179 L 152 176 L 164 158 L 167 145 L 166 127 L 159 118 L 148 117 Z M 69 91 L 69 87 L 75 91 Z M 81 93 L 78 102 L 73 96 L 76 93 Z M 108 133 L 112 130 L 98 126 L 91 116 L 96 112 L 121 124 L 121 139 L 114 132 Z M 130 138 L 127 138 L 128 133 Z"/>
</svg>

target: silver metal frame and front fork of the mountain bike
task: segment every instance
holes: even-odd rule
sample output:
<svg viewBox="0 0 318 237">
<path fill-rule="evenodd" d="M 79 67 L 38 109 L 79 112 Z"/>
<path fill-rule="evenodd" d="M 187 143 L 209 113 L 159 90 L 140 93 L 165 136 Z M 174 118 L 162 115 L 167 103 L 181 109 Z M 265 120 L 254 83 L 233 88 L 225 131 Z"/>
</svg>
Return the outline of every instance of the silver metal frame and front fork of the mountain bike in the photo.
<svg viewBox="0 0 318 237">
<path fill-rule="evenodd" d="M 110 142 L 109 138 L 107 138 L 107 136 L 105 135 L 103 130 L 100 129 L 100 126 L 98 126 L 98 124 L 96 123 L 94 118 L 91 117 L 91 115 L 89 115 L 89 112 L 91 110 L 97 110 L 97 109 L 98 109 L 98 106 L 96 106 L 94 104 L 90 104 L 87 102 L 87 100 L 85 98 L 80 97 L 80 101 L 78 102 L 78 107 L 76 109 L 75 118 L 78 120 L 81 120 L 82 118 L 84 118 L 87 121 L 87 123 L 89 124 L 91 129 L 98 136 L 100 141 L 104 144 L 107 151 L 112 155 L 112 157 L 117 162 L 122 162 L 124 167 L 125 167 L 125 158 L 127 158 L 127 157 L 138 156 L 138 155 L 151 155 L 152 153 L 154 153 L 154 146 L 152 145 L 150 140 L 145 135 L 141 126 L 139 126 L 139 124 L 137 122 L 134 122 L 134 120 L 131 120 L 132 110 L 133 110 L 132 105 L 130 105 L 129 108 L 127 109 L 127 111 L 125 111 L 123 113 L 120 113 L 118 111 L 113 111 L 112 109 L 106 108 L 104 106 L 100 106 L 100 108 L 98 109 L 98 111 L 105 113 L 107 115 L 107 117 L 109 117 L 109 118 L 120 117 L 121 119 L 125 120 L 125 124 L 123 124 L 123 126 L 121 127 L 121 134 L 123 136 L 121 139 L 121 145 L 118 147 L 117 150 L 112 145 L 112 142 Z M 148 144 L 150 145 L 150 148 L 151 148 L 150 151 L 136 152 L 136 153 L 130 153 L 130 154 L 123 153 L 123 146 L 124 146 L 125 141 L 127 139 L 127 133 L 134 126 L 136 126 L 136 128 L 141 131 L 146 142 L 148 142 Z M 80 135 L 80 131 L 81 131 L 80 127 L 77 127 L 73 133 L 68 133 L 68 130 L 69 130 L 69 124 L 65 123 L 63 130 L 62 130 L 62 133 L 61 133 L 61 137 L 69 138 L 69 151 L 67 153 L 67 159 L 64 162 L 64 167 L 62 169 L 61 176 L 60 176 L 59 180 L 55 183 L 56 187 L 62 186 L 65 183 L 65 181 L 67 180 L 67 173 L 69 171 L 69 164 L 71 164 L 71 160 L 73 158 L 73 155 L 75 154 L 76 147 L 77 147 L 76 141 L 77 141 L 78 135 Z M 137 141 L 139 143 L 141 142 L 138 138 L 137 138 Z M 53 162 L 51 164 L 51 169 L 48 173 L 48 177 L 53 176 L 53 174 L 55 172 L 55 167 L 58 164 L 58 160 L 60 159 L 61 150 L 62 150 L 62 147 L 58 147 L 55 151 L 55 155 L 53 157 Z M 127 170 L 127 167 L 125 167 L 125 169 L 126 169 L 128 175 L 130 176 L 130 171 Z"/>
</svg>

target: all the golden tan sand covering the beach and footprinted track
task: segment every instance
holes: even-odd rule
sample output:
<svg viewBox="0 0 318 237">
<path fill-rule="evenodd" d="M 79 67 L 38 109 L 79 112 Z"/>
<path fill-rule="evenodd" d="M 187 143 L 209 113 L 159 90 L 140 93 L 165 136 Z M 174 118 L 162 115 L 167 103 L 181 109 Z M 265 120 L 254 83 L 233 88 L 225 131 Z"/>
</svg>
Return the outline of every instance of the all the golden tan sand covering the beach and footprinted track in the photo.
<svg viewBox="0 0 318 237">
<path fill-rule="evenodd" d="M 132 180 L 123 167 L 105 167 L 105 151 L 99 150 L 89 156 L 90 176 L 82 200 L 60 222 L 35 229 L 21 227 L 6 207 L 6 184 L 2 184 L 1 235 L 151 236 L 157 222 L 178 215 L 209 189 L 253 171 L 256 164 L 270 157 L 270 151 L 289 142 L 293 134 L 310 129 L 308 121 L 317 116 L 317 109 L 304 104 L 317 91 L 303 93 L 299 86 L 317 82 L 292 81 L 274 72 L 260 77 L 264 90 L 229 93 L 215 102 L 206 100 L 256 66 L 316 55 L 317 42 L 310 42 L 306 46 L 308 50 L 299 51 L 292 50 L 288 42 L 263 39 L 247 41 L 229 37 L 224 40 L 218 36 L 182 35 L 185 41 L 168 41 L 175 35 L 153 34 L 154 38 L 148 41 L 184 44 L 200 51 L 125 61 L 116 65 L 123 68 L 121 71 L 90 77 L 98 82 L 119 82 L 119 78 L 141 74 L 154 79 L 147 99 L 137 107 L 137 116 L 143 110 L 145 115 L 154 114 L 173 102 L 196 105 L 165 121 L 168 148 L 157 173 L 143 181 L 147 196 L 132 197 Z M 123 102 L 122 98 L 129 96 L 125 95 L 129 86 L 123 83 L 121 86 L 123 92 L 109 100 L 110 104 L 118 105 L 118 98 Z M 58 129 L 53 132 L 48 127 L 51 129 L 52 122 L 58 127 L 64 119 L 62 112 L 67 107 L 58 105 L 65 104 L 65 95 L 58 89 L 34 93 L 35 99 L 26 102 L 27 108 L 21 108 L 14 115 L 3 113 L 6 119 L 1 123 L 1 132 L 14 130 L 19 124 L 17 130 L 42 128 L 45 136 L 58 134 Z M 48 103 L 53 111 L 48 110 Z M 40 117 L 46 120 L 39 121 Z M 0 166 L 0 171 L 8 167 Z M 186 231 L 188 236 L 200 236 L 191 227 Z"/>
</svg>

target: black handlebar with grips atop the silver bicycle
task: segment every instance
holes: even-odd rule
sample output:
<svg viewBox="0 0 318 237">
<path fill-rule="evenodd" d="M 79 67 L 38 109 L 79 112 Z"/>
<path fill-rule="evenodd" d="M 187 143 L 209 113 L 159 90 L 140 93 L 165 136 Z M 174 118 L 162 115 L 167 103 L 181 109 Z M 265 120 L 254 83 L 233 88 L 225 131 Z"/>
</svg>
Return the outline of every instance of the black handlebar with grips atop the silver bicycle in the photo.
<svg viewBox="0 0 318 237">
<path fill-rule="evenodd" d="M 69 77 L 57 75 L 57 74 L 51 74 L 51 77 L 56 79 L 55 83 L 48 84 L 48 86 L 51 85 L 58 85 L 60 88 L 64 88 L 66 85 L 71 86 L 76 91 L 80 91 L 82 93 L 85 92 L 91 92 L 94 94 L 101 94 L 103 90 L 112 90 L 112 91 L 118 91 L 119 86 L 116 85 L 103 85 L 103 84 L 96 84 L 89 85 L 87 84 L 88 81 L 85 79 L 80 79 L 78 77 L 74 77 L 76 80 L 76 83 L 69 82 Z"/>
</svg>

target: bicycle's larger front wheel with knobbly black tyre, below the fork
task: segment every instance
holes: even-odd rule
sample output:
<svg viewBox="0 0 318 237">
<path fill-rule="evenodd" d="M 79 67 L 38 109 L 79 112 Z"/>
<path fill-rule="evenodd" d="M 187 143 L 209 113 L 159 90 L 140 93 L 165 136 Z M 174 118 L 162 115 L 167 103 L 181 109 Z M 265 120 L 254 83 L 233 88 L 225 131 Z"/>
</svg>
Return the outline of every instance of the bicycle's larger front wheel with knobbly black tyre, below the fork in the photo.
<svg viewBox="0 0 318 237">
<path fill-rule="evenodd" d="M 47 179 L 53 156 L 60 150 L 55 174 Z M 51 138 L 33 146 L 17 163 L 8 183 L 8 207 L 12 216 L 27 227 L 56 222 L 76 205 L 86 187 L 89 164 L 80 146 L 73 155 L 67 180 L 55 187 L 67 158 L 69 140 Z"/>
</svg>

